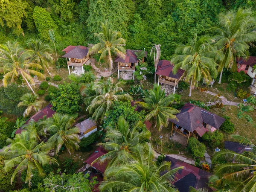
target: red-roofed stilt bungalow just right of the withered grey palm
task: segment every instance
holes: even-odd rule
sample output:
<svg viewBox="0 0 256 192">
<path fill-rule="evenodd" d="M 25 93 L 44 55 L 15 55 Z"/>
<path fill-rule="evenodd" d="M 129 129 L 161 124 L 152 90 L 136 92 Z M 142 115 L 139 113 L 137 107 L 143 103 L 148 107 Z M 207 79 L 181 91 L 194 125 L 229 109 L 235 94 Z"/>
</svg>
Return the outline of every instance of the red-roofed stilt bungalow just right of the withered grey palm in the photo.
<svg viewBox="0 0 256 192">
<path fill-rule="evenodd" d="M 172 73 L 174 65 L 171 64 L 171 61 L 160 60 L 157 64 L 156 74 L 158 75 L 158 84 L 169 84 L 174 86 L 173 93 L 175 93 L 175 87 L 178 87 L 178 82 L 184 74 L 184 70 L 179 69 L 174 75 Z"/>
</svg>

